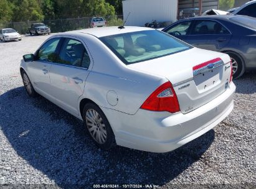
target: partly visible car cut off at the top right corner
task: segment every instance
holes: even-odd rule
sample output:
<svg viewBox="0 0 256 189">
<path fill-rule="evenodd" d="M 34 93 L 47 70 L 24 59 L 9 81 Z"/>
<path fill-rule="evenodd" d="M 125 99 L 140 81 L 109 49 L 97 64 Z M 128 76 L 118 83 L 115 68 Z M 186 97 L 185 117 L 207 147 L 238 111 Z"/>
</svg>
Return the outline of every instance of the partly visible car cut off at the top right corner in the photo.
<svg viewBox="0 0 256 189">
<path fill-rule="evenodd" d="M 256 17 L 256 0 L 245 3 L 232 12 L 232 14 Z"/>
</svg>

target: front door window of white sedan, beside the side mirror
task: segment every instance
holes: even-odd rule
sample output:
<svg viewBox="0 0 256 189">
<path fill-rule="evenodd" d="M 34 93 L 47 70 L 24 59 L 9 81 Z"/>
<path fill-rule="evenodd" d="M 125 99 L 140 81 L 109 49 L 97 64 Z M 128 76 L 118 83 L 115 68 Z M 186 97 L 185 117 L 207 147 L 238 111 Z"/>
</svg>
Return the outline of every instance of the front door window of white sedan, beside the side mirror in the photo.
<svg viewBox="0 0 256 189">
<path fill-rule="evenodd" d="M 59 44 L 59 41 L 60 38 L 54 38 L 50 39 L 44 45 L 42 45 L 38 53 L 39 60 L 54 62 L 56 58 L 55 50 L 57 48 L 57 45 Z"/>
</svg>

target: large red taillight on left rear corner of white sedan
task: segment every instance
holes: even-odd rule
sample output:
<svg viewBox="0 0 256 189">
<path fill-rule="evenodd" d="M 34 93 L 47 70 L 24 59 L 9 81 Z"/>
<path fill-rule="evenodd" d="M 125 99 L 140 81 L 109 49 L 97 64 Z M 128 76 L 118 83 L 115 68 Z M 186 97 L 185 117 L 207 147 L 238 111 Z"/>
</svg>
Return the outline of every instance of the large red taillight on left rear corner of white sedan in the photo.
<svg viewBox="0 0 256 189">
<path fill-rule="evenodd" d="M 159 86 L 141 105 L 141 109 L 150 111 L 168 111 L 176 113 L 179 110 L 179 102 L 171 82 Z"/>
</svg>

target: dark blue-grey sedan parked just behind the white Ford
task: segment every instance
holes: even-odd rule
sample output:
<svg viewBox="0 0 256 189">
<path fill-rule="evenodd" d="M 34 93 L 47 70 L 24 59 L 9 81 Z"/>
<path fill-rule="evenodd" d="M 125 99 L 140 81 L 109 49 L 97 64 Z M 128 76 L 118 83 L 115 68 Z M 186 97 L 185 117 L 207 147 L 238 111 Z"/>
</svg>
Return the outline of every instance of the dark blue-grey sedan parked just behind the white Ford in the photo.
<svg viewBox="0 0 256 189">
<path fill-rule="evenodd" d="M 256 68 L 256 19 L 247 16 L 201 16 L 175 22 L 163 32 L 195 47 L 227 53 L 233 76 Z"/>
</svg>

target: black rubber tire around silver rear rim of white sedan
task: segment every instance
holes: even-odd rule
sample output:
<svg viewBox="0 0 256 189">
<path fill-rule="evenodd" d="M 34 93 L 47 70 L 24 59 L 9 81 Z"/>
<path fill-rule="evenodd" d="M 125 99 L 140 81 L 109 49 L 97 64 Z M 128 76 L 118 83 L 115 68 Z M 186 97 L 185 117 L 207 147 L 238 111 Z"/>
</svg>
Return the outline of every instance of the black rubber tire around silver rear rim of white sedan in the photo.
<svg viewBox="0 0 256 189">
<path fill-rule="evenodd" d="M 93 129 L 93 127 L 89 126 L 89 125 L 87 126 L 87 122 L 89 124 L 90 121 L 88 121 L 88 119 L 86 118 L 86 115 L 89 113 L 89 111 L 92 111 L 92 110 L 96 111 L 100 115 L 99 119 L 102 118 L 102 123 L 105 125 L 104 131 L 107 132 L 107 135 L 106 135 L 105 141 L 102 144 L 100 144 L 96 139 L 93 138 L 94 135 L 95 135 L 94 137 L 97 136 L 97 132 L 102 132 L 102 131 L 100 131 L 102 129 L 102 127 L 94 124 L 93 127 L 95 127 L 97 129 L 97 131 L 92 131 L 92 130 L 89 131 L 89 128 Z M 84 126 L 86 127 L 86 130 L 88 132 L 88 135 L 90 136 L 90 138 L 93 140 L 93 142 L 95 142 L 95 144 L 98 147 L 100 147 L 103 150 L 108 150 L 108 149 L 111 149 L 111 147 L 115 146 L 115 144 L 116 144 L 115 143 L 115 135 L 113 133 L 113 130 L 111 129 L 110 123 L 108 122 L 108 119 L 105 116 L 105 114 L 103 113 L 103 111 L 96 104 L 93 104 L 93 103 L 85 104 L 85 106 L 83 107 L 82 118 L 83 118 Z M 90 124 L 92 124 L 92 123 L 90 123 Z"/>
</svg>

